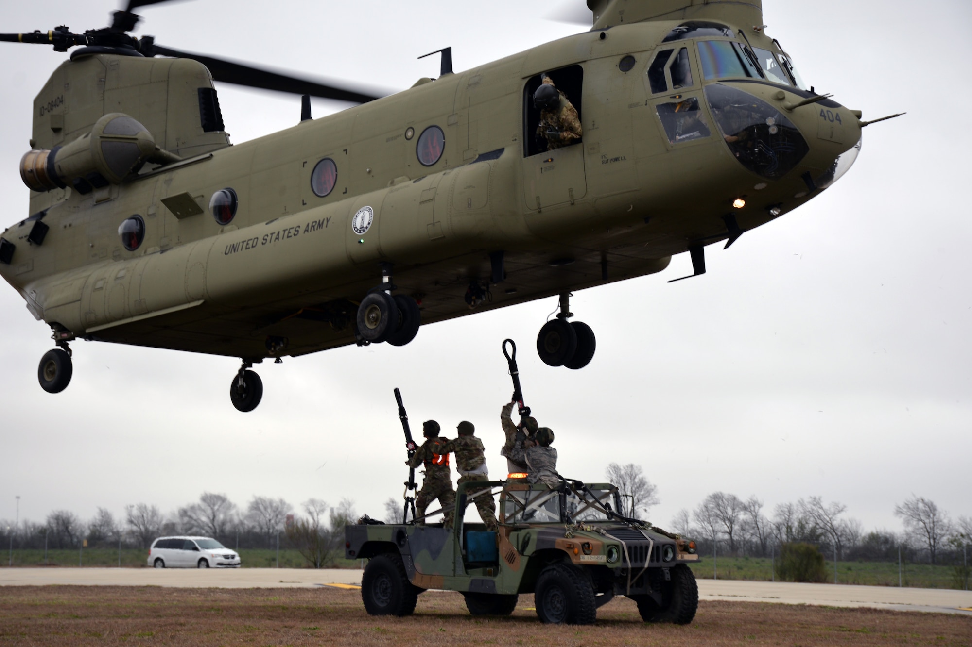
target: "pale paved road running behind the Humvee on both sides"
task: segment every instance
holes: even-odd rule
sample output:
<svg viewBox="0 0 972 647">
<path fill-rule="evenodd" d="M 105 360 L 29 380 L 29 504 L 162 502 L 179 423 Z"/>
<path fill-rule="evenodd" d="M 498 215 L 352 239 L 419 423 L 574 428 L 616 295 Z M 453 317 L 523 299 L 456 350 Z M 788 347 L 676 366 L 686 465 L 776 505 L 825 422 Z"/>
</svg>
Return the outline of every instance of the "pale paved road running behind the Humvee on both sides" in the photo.
<svg viewBox="0 0 972 647">
<path fill-rule="evenodd" d="M 0 568 L 0 586 L 157 586 L 180 588 L 316 588 L 357 584 L 362 571 L 309 568 Z M 972 617 L 972 592 L 941 589 L 699 580 L 702 599 L 829 606 L 868 606 Z"/>
</svg>

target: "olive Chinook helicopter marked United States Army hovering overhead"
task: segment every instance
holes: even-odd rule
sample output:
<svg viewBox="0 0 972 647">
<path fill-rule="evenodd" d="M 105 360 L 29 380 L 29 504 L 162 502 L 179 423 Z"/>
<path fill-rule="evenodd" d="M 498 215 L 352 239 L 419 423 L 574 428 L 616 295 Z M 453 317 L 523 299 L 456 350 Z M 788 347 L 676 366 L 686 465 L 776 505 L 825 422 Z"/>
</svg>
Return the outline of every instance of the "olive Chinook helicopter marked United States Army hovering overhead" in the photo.
<svg viewBox="0 0 972 647">
<path fill-rule="evenodd" d="M 595 336 L 571 290 L 686 251 L 703 274 L 705 246 L 836 182 L 868 123 L 803 84 L 761 0 L 588 0 L 589 31 L 459 73 L 446 49 L 438 79 L 390 96 L 129 36 L 159 1 L 0 35 L 79 46 L 34 100 L 30 214 L 0 238 L 0 274 L 53 330 L 48 392 L 82 338 L 241 358 L 230 398 L 251 411 L 264 358 L 553 295 L 538 354 L 581 368 Z M 573 146 L 538 137 L 541 75 L 576 109 Z M 311 119 L 305 97 L 293 127 L 231 146 L 214 80 L 360 105 Z"/>
</svg>

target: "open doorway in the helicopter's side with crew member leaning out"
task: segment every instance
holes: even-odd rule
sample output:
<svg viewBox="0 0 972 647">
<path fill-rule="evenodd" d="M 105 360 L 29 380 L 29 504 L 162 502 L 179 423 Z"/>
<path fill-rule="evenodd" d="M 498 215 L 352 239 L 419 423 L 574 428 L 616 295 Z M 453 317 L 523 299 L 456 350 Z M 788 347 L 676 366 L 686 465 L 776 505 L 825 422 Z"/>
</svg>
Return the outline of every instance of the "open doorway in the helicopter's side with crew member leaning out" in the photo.
<svg viewBox="0 0 972 647">
<path fill-rule="evenodd" d="M 546 83 L 544 78 L 548 80 Z M 523 87 L 524 157 L 583 141 L 580 125 L 583 82 L 584 69 L 580 65 L 543 72 L 527 81 Z"/>
</svg>

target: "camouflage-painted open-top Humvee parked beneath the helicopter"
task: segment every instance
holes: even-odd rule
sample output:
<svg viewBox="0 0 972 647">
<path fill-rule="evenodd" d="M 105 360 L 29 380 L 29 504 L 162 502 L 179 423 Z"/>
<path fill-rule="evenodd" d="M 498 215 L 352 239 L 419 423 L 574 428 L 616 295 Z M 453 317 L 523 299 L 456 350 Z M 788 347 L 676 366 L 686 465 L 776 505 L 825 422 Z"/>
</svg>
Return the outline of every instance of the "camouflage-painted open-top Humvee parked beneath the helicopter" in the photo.
<svg viewBox="0 0 972 647">
<path fill-rule="evenodd" d="M 499 532 L 463 518 L 484 491 L 500 494 Z M 699 603 L 688 566 L 699 561 L 695 542 L 621 509 L 610 484 L 465 483 L 452 528 L 364 517 L 345 527 L 345 557 L 368 560 L 362 599 L 371 615 L 409 615 L 420 594 L 439 589 L 461 592 L 473 615 L 509 615 L 520 594 L 532 593 L 542 622 L 586 625 L 623 595 L 645 622 L 690 623 Z M 474 506 L 471 515 L 479 521 Z"/>
</svg>

